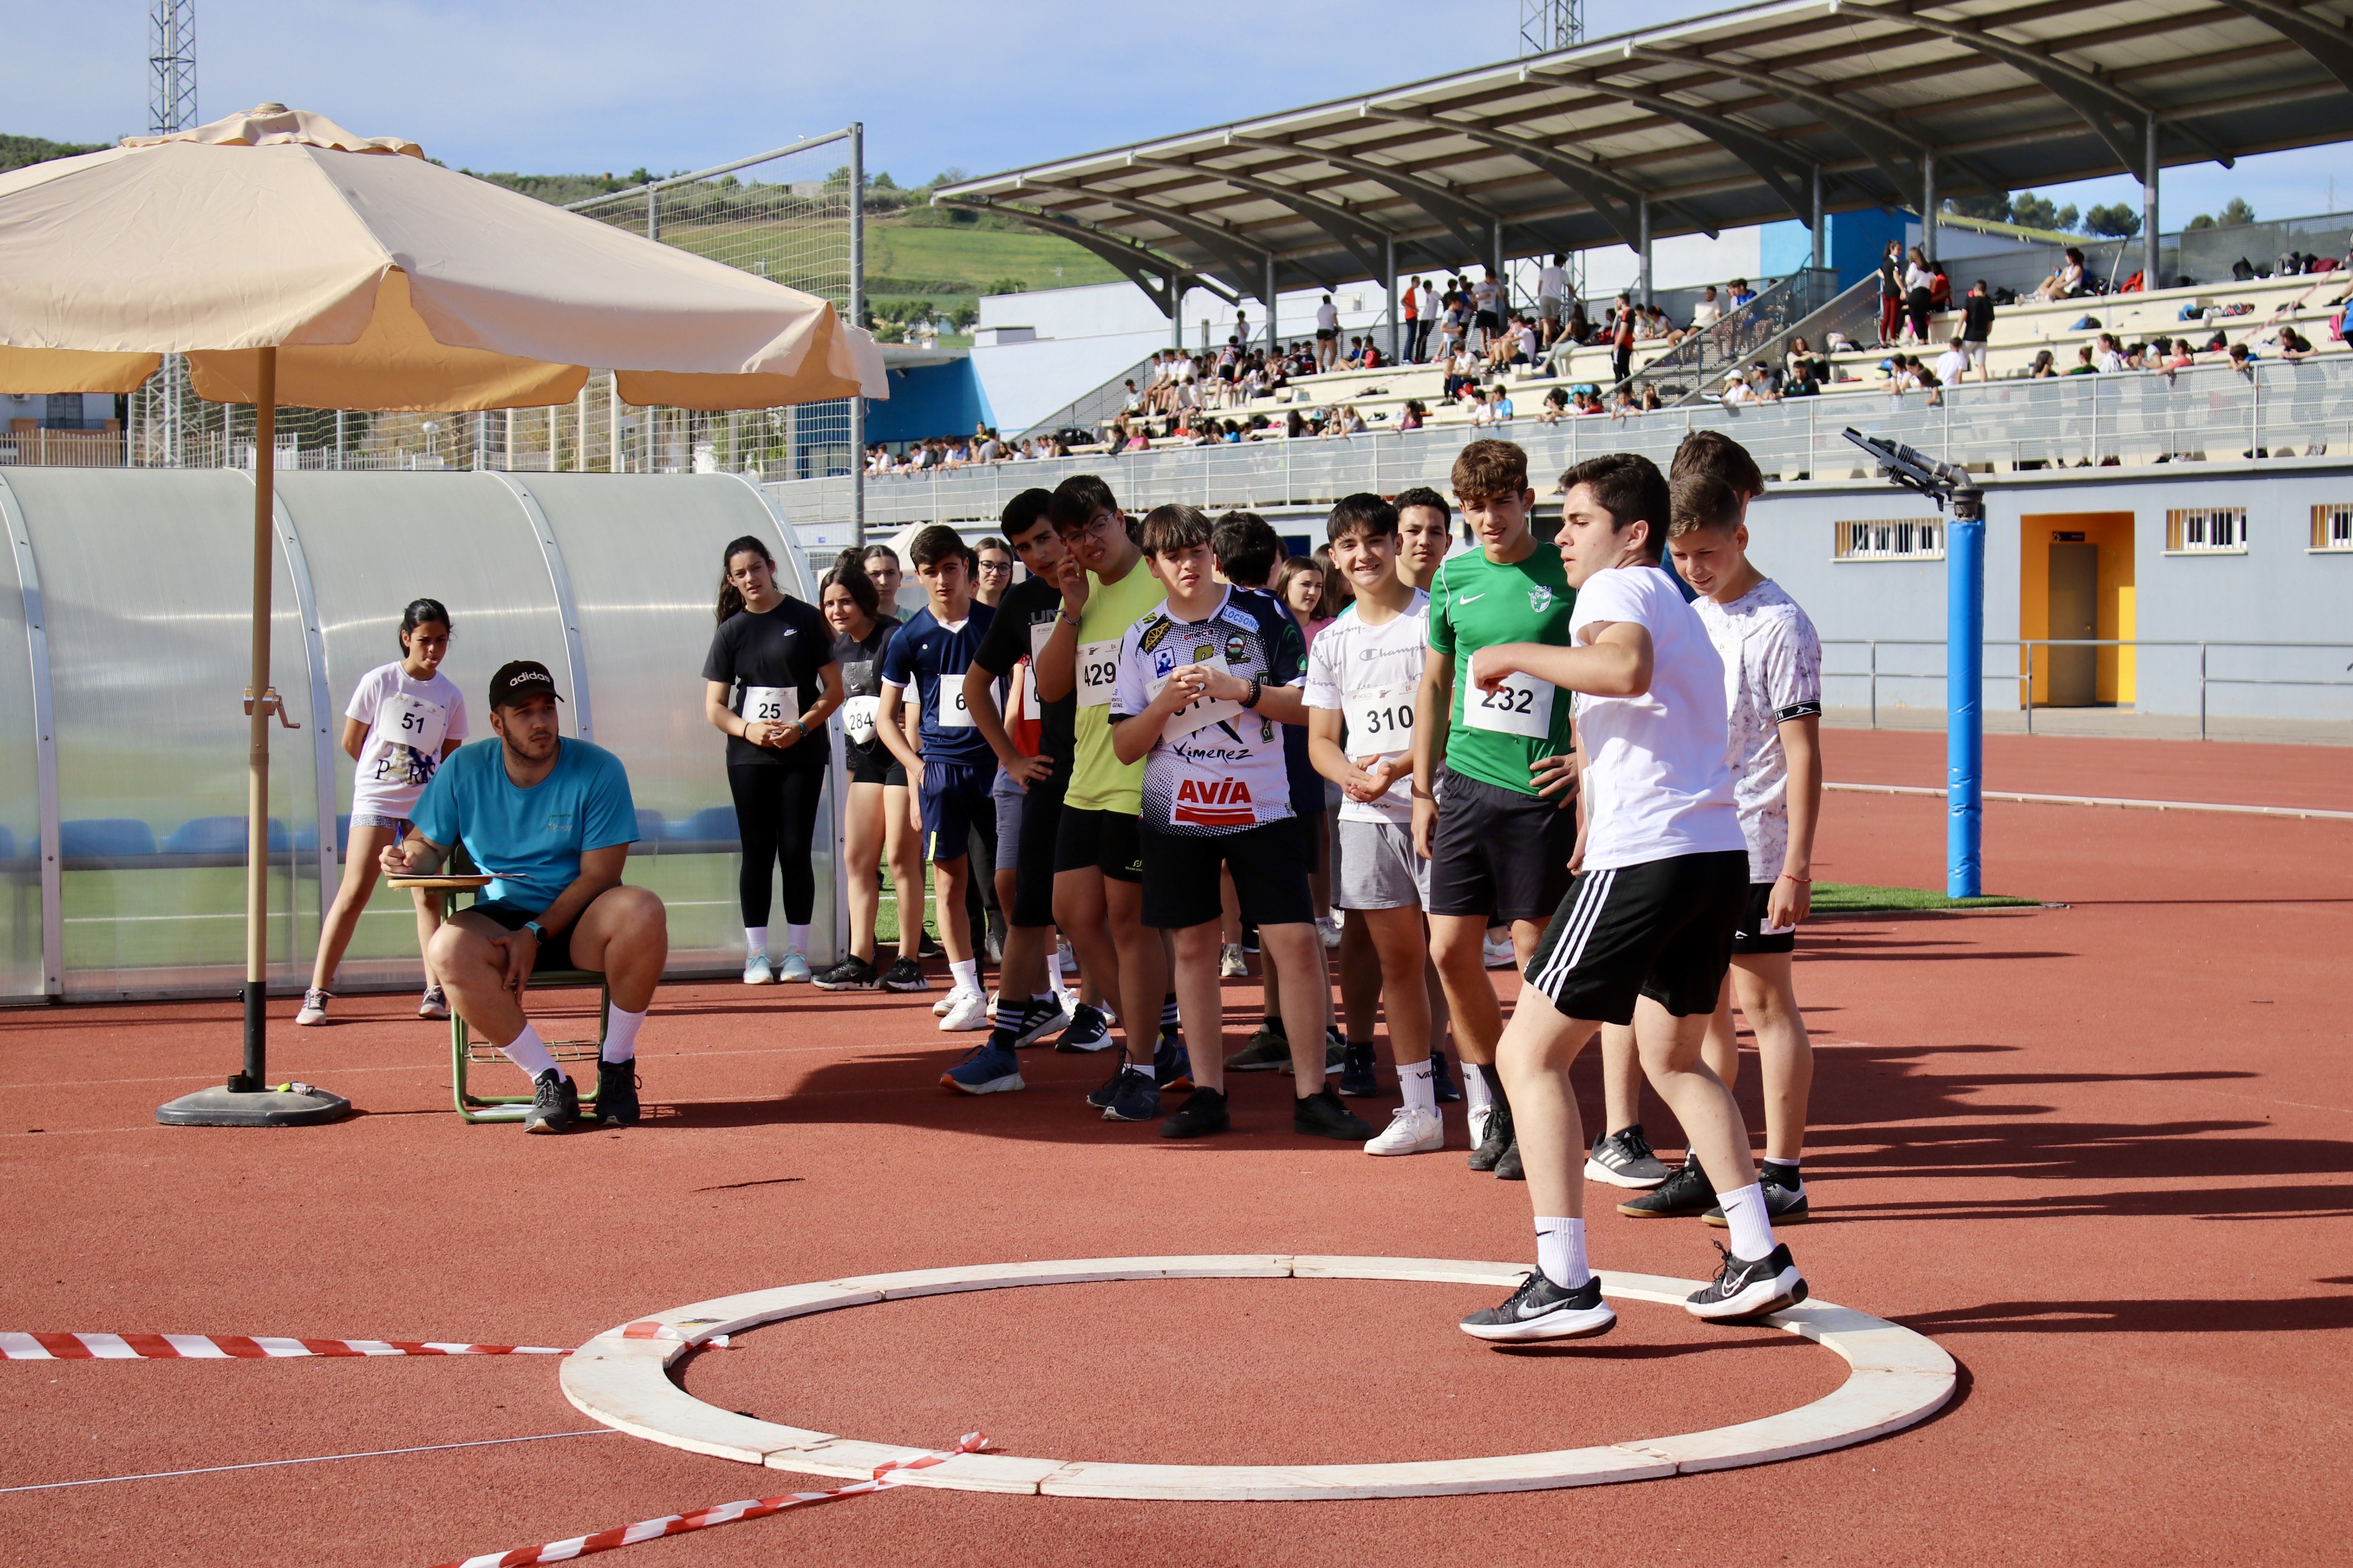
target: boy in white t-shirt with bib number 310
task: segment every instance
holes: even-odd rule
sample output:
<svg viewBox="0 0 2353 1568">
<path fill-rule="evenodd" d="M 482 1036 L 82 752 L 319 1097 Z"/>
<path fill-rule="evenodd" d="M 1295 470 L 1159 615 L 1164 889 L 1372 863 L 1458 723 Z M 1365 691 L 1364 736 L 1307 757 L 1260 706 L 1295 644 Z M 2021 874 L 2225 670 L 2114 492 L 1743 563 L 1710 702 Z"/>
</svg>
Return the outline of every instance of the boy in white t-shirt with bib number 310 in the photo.
<svg viewBox="0 0 2353 1568">
<path fill-rule="evenodd" d="M 1355 588 L 1355 602 L 1308 649 L 1308 759 L 1341 790 L 1332 905 L 1372 943 L 1388 1004 L 1388 1051 L 1405 1093 L 1388 1128 L 1365 1152 L 1431 1154 L 1447 1147 L 1447 1133 L 1431 1074 L 1428 938 L 1421 924 L 1431 870 L 1414 853 L 1412 745 L 1431 595 L 1398 578 L 1398 508 L 1388 501 L 1369 494 L 1341 498 L 1325 536 L 1332 564 Z M 1351 1009 L 1348 1023 L 1351 1065 L 1362 1053 L 1369 1077 L 1369 1009 L 1362 1016 Z"/>
</svg>

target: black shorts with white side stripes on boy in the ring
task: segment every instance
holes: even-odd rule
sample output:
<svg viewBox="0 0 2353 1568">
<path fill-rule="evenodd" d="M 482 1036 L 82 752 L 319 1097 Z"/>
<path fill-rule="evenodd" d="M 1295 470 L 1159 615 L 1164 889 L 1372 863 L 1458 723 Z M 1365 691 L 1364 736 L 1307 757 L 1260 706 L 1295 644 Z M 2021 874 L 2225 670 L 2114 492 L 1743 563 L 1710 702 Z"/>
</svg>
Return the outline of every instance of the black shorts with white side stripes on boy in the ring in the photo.
<svg viewBox="0 0 2353 1568">
<path fill-rule="evenodd" d="M 1746 905 L 1744 849 L 1577 872 L 1525 978 L 1567 1018 L 1633 1023 L 1635 997 L 1713 1013 Z"/>
</svg>

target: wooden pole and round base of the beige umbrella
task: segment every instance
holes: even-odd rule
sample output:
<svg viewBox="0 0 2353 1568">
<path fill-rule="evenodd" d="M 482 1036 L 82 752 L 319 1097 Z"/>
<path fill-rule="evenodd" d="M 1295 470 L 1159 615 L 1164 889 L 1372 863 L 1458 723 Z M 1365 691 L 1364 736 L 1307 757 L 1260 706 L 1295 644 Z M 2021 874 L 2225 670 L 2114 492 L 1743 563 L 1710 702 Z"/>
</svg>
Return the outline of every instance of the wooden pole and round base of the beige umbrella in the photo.
<svg viewBox="0 0 2353 1568">
<path fill-rule="evenodd" d="M 271 691 L 271 585 L 278 522 L 278 350 L 259 350 L 254 376 L 254 670 L 245 689 L 245 1063 L 224 1088 L 200 1088 L 155 1110 L 165 1126 L 301 1126 L 334 1121 L 351 1100 L 308 1084 L 268 1086 L 271 983 L 271 717 L 294 729 Z"/>
</svg>

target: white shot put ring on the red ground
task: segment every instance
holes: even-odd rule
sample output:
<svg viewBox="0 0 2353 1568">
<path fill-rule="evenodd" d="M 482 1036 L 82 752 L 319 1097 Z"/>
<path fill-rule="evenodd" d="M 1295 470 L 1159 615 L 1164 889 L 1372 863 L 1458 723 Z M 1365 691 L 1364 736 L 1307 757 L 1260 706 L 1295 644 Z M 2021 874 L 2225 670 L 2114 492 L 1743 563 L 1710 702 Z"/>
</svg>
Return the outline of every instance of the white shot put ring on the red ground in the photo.
<svg viewBox="0 0 2353 1568">
<path fill-rule="evenodd" d="M 866 1479 L 878 1465 L 932 1453 L 899 1443 L 871 1443 L 831 1432 L 786 1427 L 720 1410 L 671 1380 L 671 1363 L 694 1340 L 744 1333 L 812 1312 L 866 1307 L 953 1291 L 1009 1291 L 1016 1286 L 1101 1284 L 1120 1279 L 1400 1279 L 1428 1284 L 1494 1286 L 1508 1291 L 1527 1274 L 1522 1262 L 1461 1262 L 1447 1258 L 1075 1258 L 1061 1262 L 991 1262 L 962 1269 L 913 1269 L 861 1274 L 774 1291 L 748 1291 L 720 1300 L 656 1312 L 581 1345 L 562 1361 L 562 1392 L 584 1415 L 621 1432 L 708 1453 L 744 1465 L 821 1476 Z M 1697 1279 L 1659 1274 L 1602 1274 L 1602 1295 L 1680 1307 L 1701 1286 Z M 929 1469 L 904 1472 L 906 1486 L 946 1486 L 979 1493 L 1040 1493 L 1054 1497 L 1153 1497 L 1153 1500 L 1329 1500 L 1329 1497 L 1435 1497 L 1461 1493 L 1513 1493 L 1555 1486 L 1607 1486 L 1654 1481 L 1699 1469 L 1737 1469 L 1795 1460 L 1897 1432 L 1934 1415 L 1953 1396 L 1953 1356 L 1934 1340 L 1887 1319 L 1805 1302 L 1758 1319 L 1835 1352 L 1847 1361 L 1847 1380 L 1828 1396 L 1781 1415 L 1685 1432 L 1682 1436 L 1628 1439 L 1598 1448 L 1555 1453 L 1506 1453 L 1471 1460 L 1417 1460 L 1409 1465 L 1120 1465 L 1101 1460 L 1031 1460 L 1007 1453 L 967 1453 Z M 659 1328 L 654 1328 L 659 1326 Z M 675 1333 L 682 1338 L 656 1338 Z M 976 1418 L 972 1425 L 986 1427 Z"/>
</svg>

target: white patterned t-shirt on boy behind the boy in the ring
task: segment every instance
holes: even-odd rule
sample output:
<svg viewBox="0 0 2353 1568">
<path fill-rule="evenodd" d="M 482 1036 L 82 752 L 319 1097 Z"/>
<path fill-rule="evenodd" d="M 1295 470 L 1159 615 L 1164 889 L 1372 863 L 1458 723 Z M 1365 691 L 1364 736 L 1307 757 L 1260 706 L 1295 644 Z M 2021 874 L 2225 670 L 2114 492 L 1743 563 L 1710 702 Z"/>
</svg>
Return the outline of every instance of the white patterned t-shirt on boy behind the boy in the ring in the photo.
<svg viewBox="0 0 2353 1568">
<path fill-rule="evenodd" d="M 1788 856 L 1788 755 L 1781 724 L 1821 715 L 1821 637 L 1798 602 L 1765 578 L 1732 604 L 1694 599 L 1725 661 L 1732 799 L 1748 839 L 1748 879 L 1772 882 Z"/>
</svg>

